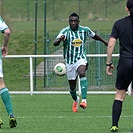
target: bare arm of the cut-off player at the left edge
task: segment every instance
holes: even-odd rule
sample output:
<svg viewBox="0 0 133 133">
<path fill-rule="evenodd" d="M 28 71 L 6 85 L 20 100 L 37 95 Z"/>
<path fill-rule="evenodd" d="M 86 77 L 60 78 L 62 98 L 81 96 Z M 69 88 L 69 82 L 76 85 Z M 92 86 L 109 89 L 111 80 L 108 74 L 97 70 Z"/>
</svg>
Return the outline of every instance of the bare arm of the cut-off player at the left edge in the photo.
<svg viewBox="0 0 133 133">
<path fill-rule="evenodd" d="M 2 56 L 5 57 L 8 54 L 8 42 L 10 39 L 10 29 L 7 28 L 6 30 L 4 30 L 3 34 L 4 34 L 4 41 L 3 41 L 3 46 L 1 47 L 1 51 L 2 51 Z"/>
</svg>

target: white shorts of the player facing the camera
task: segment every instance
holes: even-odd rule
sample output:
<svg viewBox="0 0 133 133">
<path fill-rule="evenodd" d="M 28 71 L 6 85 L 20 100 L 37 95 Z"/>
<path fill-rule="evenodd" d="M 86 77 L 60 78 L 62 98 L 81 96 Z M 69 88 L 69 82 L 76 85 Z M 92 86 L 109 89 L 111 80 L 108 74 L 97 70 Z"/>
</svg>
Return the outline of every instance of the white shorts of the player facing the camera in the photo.
<svg viewBox="0 0 133 133">
<path fill-rule="evenodd" d="M 86 59 L 79 59 L 74 64 L 66 64 L 68 80 L 75 80 L 77 75 L 78 75 L 78 73 L 77 73 L 78 67 L 81 66 L 81 65 L 85 65 L 86 66 L 86 64 L 87 64 Z"/>
</svg>

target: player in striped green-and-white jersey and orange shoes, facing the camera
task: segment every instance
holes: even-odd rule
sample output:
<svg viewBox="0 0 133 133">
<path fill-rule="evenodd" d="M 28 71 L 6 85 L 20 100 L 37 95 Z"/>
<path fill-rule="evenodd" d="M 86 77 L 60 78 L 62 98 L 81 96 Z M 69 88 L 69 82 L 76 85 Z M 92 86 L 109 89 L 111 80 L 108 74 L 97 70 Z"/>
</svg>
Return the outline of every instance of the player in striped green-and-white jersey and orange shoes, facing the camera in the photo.
<svg viewBox="0 0 133 133">
<path fill-rule="evenodd" d="M 87 107 L 87 90 L 88 81 L 86 78 L 86 70 L 88 63 L 86 60 L 86 39 L 91 37 L 95 40 L 103 42 L 106 46 L 108 42 L 95 34 L 89 27 L 79 25 L 79 16 L 77 13 L 72 13 L 69 16 L 69 26 L 63 28 L 57 35 L 54 46 L 58 46 L 63 41 L 64 59 L 67 68 L 67 78 L 70 86 L 70 94 L 74 100 L 72 111 L 78 111 L 79 97 L 76 94 L 76 79 L 79 75 L 81 85 L 82 101 L 80 107 Z"/>
</svg>

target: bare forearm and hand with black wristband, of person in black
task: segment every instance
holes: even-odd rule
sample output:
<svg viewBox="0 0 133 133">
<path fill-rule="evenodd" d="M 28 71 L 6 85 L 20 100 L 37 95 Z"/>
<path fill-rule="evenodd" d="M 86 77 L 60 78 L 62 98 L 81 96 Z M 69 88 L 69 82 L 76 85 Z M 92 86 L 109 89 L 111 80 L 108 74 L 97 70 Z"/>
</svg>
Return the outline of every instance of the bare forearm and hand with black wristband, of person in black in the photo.
<svg viewBox="0 0 133 133">
<path fill-rule="evenodd" d="M 112 76 L 111 70 L 114 69 L 113 63 L 112 63 L 112 53 L 114 51 L 114 47 L 116 44 L 116 39 L 115 38 L 110 38 L 108 48 L 107 48 L 107 62 L 106 62 L 106 73 L 109 76 Z"/>
</svg>

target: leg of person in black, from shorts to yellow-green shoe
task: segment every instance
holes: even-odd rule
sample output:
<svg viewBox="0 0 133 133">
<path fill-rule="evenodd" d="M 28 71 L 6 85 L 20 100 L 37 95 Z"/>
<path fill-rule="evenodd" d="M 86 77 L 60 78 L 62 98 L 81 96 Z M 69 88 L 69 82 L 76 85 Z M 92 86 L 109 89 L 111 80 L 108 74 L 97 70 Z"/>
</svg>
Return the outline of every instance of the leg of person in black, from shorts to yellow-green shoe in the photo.
<svg viewBox="0 0 133 133">
<path fill-rule="evenodd" d="M 127 68 L 127 69 L 125 69 Z M 118 131 L 118 122 L 122 112 L 122 104 L 126 96 L 126 92 L 132 79 L 132 60 L 120 58 L 117 67 L 116 77 L 116 96 L 112 106 L 112 128 L 111 131 Z M 122 77 L 122 78 L 121 78 Z"/>
</svg>

